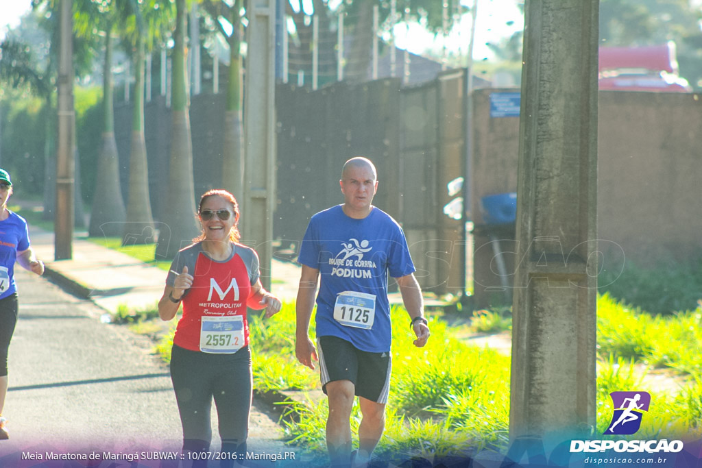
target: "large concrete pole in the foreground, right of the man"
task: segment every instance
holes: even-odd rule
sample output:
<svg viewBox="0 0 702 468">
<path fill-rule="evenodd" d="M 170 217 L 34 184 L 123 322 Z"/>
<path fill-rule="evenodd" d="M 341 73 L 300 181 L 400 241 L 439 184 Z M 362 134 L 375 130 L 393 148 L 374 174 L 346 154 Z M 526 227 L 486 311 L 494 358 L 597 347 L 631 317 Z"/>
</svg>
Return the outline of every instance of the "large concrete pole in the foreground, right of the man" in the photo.
<svg viewBox="0 0 702 468">
<path fill-rule="evenodd" d="M 512 441 L 595 426 L 598 5 L 525 4 Z"/>
</svg>

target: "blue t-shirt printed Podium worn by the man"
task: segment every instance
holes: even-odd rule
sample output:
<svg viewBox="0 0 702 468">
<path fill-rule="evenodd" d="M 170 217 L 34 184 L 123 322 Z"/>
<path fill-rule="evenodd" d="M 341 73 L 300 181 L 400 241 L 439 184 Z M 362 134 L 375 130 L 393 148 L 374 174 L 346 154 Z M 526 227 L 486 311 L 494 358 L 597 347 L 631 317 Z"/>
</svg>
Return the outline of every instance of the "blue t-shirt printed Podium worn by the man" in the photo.
<svg viewBox="0 0 702 468">
<path fill-rule="evenodd" d="M 388 273 L 399 278 L 415 271 L 404 232 L 390 215 L 373 207 L 357 220 L 341 205 L 317 213 L 298 262 L 319 269 L 317 336 L 340 337 L 366 352 L 390 351 Z"/>
</svg>

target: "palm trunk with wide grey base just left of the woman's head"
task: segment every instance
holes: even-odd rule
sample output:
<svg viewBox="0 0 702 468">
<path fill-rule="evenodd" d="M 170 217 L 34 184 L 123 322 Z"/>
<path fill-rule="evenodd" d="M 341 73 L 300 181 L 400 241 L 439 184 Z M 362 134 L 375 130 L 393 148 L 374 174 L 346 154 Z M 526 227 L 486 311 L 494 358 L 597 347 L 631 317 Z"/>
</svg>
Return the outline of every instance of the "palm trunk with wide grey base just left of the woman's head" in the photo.
<svg viewBox="0 0 702 468">
<path fill-rule="evenodd" d="M 185 86 L 185 0 L 176 0 L 176 32 L 173 47 L 173 121 L 168 168 L 168 203 L 159 226 L 156 258 L 173 258 L 183 244 L 197 236 L 195 188 L 192 178 L 192 140 Z"/>
</svg>

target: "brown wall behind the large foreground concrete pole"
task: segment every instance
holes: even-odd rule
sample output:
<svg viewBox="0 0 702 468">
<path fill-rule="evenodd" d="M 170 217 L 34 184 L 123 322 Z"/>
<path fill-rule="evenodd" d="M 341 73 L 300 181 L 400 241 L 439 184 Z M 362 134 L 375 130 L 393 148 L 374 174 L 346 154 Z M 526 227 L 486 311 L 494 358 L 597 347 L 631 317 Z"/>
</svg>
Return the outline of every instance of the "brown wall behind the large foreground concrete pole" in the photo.
<svg viewBox="0 0 702 468">
<path fill-rule="evenodd" d="M 490 117 L 489 95 L 501 91 L 515 90 L 473 95 L 471 211 L 476 225 L 482 223 L 482 196 L 517 189 L 519 118 Z M 603 267 L 701 258 L 702 100 L 695 94 L 600 91 L 599 112 L 597 217 Z M 498 234 L 511 284 L 513 233 Z M 494 243 L 484 234 L 474 241 L 477 305 L 508 302 L 508 294 L 499 291 Z"/>
</svg>

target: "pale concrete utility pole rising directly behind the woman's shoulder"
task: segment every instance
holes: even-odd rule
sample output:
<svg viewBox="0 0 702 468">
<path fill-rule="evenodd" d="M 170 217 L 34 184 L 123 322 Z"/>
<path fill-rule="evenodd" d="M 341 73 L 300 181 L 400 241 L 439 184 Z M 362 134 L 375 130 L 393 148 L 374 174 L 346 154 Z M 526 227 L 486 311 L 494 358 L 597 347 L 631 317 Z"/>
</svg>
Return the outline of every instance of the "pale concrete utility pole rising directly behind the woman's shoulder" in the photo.
<svg viewBox="0 0 702 468">
<path fill-rule="evenodd" d="M 277 0 L 251 0 L 246 27 L 244 95 L 244 200 L 241 240 L 258 252 L 261 283 L 270 290 L 275 208 L 275 6 Z"/>
</svg>

